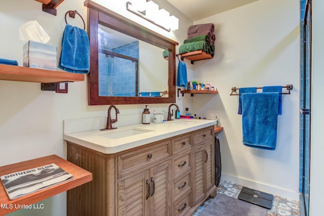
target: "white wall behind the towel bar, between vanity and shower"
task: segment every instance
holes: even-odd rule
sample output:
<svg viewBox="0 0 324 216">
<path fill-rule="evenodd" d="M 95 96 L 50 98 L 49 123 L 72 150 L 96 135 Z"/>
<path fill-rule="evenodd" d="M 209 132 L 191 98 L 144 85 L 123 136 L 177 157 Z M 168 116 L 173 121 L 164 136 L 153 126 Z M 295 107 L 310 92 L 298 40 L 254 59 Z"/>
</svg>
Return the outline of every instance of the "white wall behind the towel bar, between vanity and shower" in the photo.
<svg viewBox="0 0 324 216">
<path fill-rule="evenodd" d="M 195 62 L 193 76 L 215 85 L 219 94 L 195 95 L 193 110 L 207 118 L 217 115 L 224 126 L 219 134 L 223 178 L 295 200 L 299 199 L 299 4 L 262 0 L 194 23 L 215 24 L 214 59 Z M 275 151 L 242 145 L 238 96 L 229 96 L 231 88 L 286 84 L 294 89 L 282 99 Z"/>
</svg>

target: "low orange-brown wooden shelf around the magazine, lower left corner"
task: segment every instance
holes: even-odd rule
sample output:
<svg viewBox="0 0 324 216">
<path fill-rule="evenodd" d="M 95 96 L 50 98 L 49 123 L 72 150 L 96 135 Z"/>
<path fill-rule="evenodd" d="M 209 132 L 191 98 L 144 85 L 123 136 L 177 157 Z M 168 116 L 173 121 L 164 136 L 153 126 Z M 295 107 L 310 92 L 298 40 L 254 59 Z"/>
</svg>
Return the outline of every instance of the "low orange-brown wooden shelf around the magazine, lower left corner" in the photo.
<svg viewBox="0 0 324 216">
<path fill-rule="evenodd" d="M 21 205 L 30 205 L 36 202 L 42 201 L 64 191 L 70 190 L 77 186 L 83 185 L 87 182 L 92 181 L 92 173 L 67 161 L 57 155 L 50 155 L 46 157 L 36 158 L 32 160 L 27 160 L 19 163 L 14 163 L 6 166 L 0 167 L 0 176 L 4 176 L 7 174 L 11 174 L 13 172 L 18 172 L 21 170 L 31 169 L 47 164 L 55 163 L 66 172 L 73 175 L 73 179 L 68 182 L 63 182 L 57 185 L 53 185 L 46 189 L 33 192 L 31 194 L 25 195 L 23 197 L 19 197 L 17 199 L 10 200 L 6 189 L 3 184 L 0 184 L 0 203 L 2 206 L 8 206 L 7 208 L 0 208 L 0 215 L 5 215 L 15 210 L 19 210 L 19 208 L 15 208 L 15 206 Z M 13 208 L 10 208 L 13 206 Z"/>
</svg>

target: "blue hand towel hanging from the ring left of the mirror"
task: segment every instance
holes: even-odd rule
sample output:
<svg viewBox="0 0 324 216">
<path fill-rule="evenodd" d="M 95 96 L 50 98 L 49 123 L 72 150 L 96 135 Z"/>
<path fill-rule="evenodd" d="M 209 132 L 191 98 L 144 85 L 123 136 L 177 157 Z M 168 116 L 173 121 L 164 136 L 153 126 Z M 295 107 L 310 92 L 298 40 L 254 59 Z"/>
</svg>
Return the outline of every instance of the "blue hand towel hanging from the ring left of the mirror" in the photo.
<svg viewBox="0 0 324 216">
<path fill-rule="evenodd" d="M 84 29 L 66 24 L 58 68 L 71 73 L 89 73 L 90 44 Z"/>
</svg>

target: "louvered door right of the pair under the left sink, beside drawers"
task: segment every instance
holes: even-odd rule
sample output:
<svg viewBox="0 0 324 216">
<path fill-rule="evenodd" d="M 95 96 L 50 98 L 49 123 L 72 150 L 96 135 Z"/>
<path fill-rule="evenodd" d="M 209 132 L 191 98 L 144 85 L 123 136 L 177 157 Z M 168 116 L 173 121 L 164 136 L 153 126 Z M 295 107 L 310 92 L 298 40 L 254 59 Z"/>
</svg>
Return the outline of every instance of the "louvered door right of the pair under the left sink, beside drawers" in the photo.
<svg viewBox="0 0 324 216">
<path fill-rule="evenodd" d="M 150 198 L 149 215 L 171 215 L 171 160 L 158 164 L 149 170 Z M 169 197 L 169 198 L 168 198 Z"/>
</svg>

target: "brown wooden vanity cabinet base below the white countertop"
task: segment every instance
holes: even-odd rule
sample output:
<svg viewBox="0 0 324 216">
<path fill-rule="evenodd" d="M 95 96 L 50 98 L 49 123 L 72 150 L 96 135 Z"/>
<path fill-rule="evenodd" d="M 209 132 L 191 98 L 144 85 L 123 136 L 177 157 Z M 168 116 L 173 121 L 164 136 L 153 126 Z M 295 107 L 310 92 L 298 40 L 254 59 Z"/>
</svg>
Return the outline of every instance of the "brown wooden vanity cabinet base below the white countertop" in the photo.
<svg viewBox="0 0 324 216">
<path fill-rule="evenodd" d="M 210 126 L 115 154 L 67 141 L 67 160 L 93 174 L 67 191 L 67 215 L 192 214 L 216 195 L 213 137 Z"/>
</svg>

